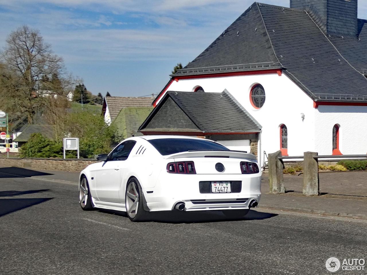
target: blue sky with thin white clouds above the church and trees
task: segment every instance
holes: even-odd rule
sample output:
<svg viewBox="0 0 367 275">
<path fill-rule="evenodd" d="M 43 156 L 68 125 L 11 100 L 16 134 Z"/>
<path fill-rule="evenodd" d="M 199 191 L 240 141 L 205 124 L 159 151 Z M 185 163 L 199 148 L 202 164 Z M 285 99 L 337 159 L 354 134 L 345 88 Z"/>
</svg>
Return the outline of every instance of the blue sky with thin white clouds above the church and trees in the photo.
<svg viewBox="0 0 367 275">
<path fill-rule="evenodd" d="M 158 94 L 254 0 L 0 0 L 0 48 L 26 24 L 39 29 L 93 94 Z M 264 0 L 289 7 L 289 0 Z M 359 0 L 359 18 L 367 18 Z"/>
</svg>

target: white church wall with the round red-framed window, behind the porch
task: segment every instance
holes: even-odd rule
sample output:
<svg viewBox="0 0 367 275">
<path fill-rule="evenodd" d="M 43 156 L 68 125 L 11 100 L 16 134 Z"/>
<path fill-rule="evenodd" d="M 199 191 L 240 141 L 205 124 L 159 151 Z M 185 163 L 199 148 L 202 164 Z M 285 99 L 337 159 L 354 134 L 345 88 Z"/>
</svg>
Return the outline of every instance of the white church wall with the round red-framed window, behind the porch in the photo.
<svg viewBox="0 0 367 275">
<path fill-rule="evenodd" d="M 250 89 L 257 83 L 264 87 L 266 95 L 264 106 L 258 110 L 252 107 L 249 100 Z M 313 100 L 285 74 L 185 79 L 173 81 L 168 91 L 193 91 L 198 85 L 205 92 L 227 89 L 261 124 L 261 149 L 258 146 L 261 159 L 264 151 L 269 154 L 280 149 L 281 124 L 288 129 L 288 155 L 303 155 L 304 151 L 315 150 Z M 303 122 L 301 113 L 305 115 Z"/>
</svg>

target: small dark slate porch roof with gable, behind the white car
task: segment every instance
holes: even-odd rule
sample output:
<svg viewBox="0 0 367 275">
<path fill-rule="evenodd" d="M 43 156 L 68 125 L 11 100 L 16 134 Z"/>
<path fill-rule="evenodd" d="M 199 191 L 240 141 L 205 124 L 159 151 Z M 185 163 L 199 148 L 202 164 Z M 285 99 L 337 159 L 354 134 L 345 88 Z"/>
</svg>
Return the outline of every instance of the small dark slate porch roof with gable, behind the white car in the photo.
<svg viewBox="0 0 367 275">
<path fill-rule="evenodd" d="M 176 107 L 178 106 L 176 110 L 174 110 L 174 106 L 170 107 L 171 112 L 164 110 L 164 106 L 169 103 L 169 100 L 174 102 Z M 186 117 L 179 113 L 181 111 Z M 160 113 L 164 113 L 164 115 L 160 115 Z M 153 123 L 156 117 L 159 117 L 159 121 Z M 154 128 L 150 126 L 152 124 L 154 124 Z M 181 125 L 181 128 L 172 128 L 172 125 Z M 222 93 L 168 91 L 140 126 L 139 131 L 179 130 L 185 132 L 184 129 L 206 133 L 256 132 L 261 130 L 261 125 L 226 90 Z"/>
</svg>

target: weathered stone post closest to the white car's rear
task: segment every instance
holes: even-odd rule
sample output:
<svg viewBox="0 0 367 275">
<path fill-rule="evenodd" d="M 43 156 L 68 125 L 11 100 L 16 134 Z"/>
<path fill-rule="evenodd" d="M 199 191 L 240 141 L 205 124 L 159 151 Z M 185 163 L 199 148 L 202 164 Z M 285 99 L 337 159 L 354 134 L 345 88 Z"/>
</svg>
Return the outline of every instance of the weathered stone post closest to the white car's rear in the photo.
<svg viewBox="0 0 367 275">
<path fill-rule="evenodd" d="M 270 193 L 272 194 L 279 194 L 286 192 L 283 180 L 284 165 L 283 161 L 278 157 L 281 157 L 280 151 L 269 154 L 268 157 L 269 187 L 270 187 Z"/>
</svg>

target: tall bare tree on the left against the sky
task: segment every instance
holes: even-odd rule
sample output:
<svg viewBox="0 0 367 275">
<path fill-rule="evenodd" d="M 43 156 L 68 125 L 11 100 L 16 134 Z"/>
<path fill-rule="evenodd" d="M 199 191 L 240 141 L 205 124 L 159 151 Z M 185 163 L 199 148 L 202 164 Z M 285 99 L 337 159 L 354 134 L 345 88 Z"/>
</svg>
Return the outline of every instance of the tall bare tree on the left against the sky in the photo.
<svg viewBox="0 0 367 275">
<path fill-rule="evenodd" d="M 50 102 L 48 97 L 64 96 L 75 83 L 62 58 L 54 54 L 38 30 L 28 26 L 10 33 L 1 58 L 0 93 L 13 102 L 7 105 L 8 111 L 26 115 L 29 123 Z"/>
</svg>

